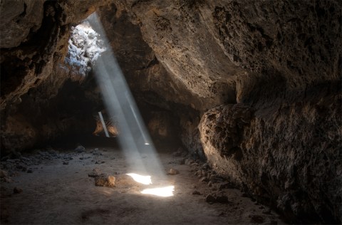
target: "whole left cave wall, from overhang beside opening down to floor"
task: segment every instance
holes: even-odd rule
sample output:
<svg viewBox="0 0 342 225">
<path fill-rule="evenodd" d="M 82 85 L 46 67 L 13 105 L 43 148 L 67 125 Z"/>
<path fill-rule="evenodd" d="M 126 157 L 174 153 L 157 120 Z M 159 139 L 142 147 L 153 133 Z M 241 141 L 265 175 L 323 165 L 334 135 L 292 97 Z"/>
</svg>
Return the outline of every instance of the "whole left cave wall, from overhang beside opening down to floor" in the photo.
<svg viewBox="0 0 342 225">
<path fill-rule="evenodd" d="M 64 98 L 64 92 L 59 99 L 54 97 L 70 78 L 61 65 L 71 24 L 85 19 L 104 2 L 1 1 L 1 154 L 89 126 L 78 124 L 73 113 L 81 110 L 82 103 L 72 101 L 78 94 Z M 67 82 L 63 90 L 71 86 Z M 76 109 L 66 108 L 69 103 Z"/>
</svg>

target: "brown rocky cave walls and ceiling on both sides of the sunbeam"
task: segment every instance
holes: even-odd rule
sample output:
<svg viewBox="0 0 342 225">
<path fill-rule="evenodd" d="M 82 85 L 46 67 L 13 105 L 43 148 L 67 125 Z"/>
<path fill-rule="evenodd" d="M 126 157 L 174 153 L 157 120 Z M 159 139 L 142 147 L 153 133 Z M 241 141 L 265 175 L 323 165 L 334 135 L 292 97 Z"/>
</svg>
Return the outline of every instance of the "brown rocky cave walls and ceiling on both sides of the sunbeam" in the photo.
<svg viewBox="0 0 342 225">
<path fill-rule="evenodd" d="M 70 24 L 103 2 L 6 2 L 1 149 L 90 130 L 91 113 L 71 116 L 81 103 L 43 114 L 45 123 L 32 118 L 53 115 L 77 87 L 57 65 Z M 333 223 L 342 218 L 341 10 L 333 0 L 115 0 L 98 14 L 152 132 L 180 129 L 190 152 L 289 221 Z M 76 101 L 99 98 L 89 79 Z"/>
</svg>

